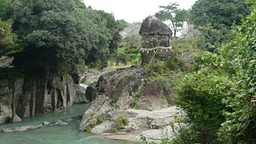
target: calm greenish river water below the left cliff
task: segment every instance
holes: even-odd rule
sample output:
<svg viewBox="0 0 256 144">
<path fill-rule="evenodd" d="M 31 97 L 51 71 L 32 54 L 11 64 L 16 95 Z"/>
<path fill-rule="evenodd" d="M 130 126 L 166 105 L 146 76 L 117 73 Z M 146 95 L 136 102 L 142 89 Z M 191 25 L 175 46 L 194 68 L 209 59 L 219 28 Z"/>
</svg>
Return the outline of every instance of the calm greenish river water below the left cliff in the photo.
<svg viewBox="0 0 256 144">
<path fill-rule="evenodd" d="M 54 122 L 58 119 L 82 115 L 88 105 L 75 105 L 66 110 L 25 118 L 23 122 L 0 125 L 0 130 L 16 126 L 25 126 L 36 122 Z M 79 122 L 71 122 L 68 126 L 46 126 L 37 130 L 5 134 L 0 132 L 0 144 L 122 144 L 132 142 L 114 141 L 100 138 L 98 135 L 87 134 L 78 130 Z"/>
</svg>

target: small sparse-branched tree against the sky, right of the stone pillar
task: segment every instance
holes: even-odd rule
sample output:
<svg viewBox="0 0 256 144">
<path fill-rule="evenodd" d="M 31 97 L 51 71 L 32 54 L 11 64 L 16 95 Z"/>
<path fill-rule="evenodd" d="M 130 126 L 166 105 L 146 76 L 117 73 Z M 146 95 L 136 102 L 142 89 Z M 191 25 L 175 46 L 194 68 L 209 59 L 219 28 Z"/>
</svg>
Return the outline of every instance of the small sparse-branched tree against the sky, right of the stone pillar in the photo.
<svg viewBox="0 0 256 144">
<path fill-rule="evenodd" d="M 168 6 L 159 6 L 162 10 L 154 14 L 161 21 L 170 20 L 174 28 L 174 37 L 176 37 L 178 26 L 182 26 L 183 22 L 188 20 L 188 11 L 178 9 L 178 6 L 178 3 L 170 3 Z"/>
</svg>

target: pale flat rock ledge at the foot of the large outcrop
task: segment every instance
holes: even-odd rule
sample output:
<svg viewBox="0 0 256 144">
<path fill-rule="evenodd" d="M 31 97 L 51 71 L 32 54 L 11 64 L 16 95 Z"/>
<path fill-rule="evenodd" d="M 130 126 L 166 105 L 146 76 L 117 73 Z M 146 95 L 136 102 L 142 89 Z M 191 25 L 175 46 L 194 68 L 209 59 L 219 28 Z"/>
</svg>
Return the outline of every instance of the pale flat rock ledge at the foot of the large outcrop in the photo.
<svg viewBox="0 0 256 144">
<path fill-rule="evenodd" d="M 176 106 L 154 111 L 128 109 L 126 112 L 136 114 L 135 118 L 129 118 L 129 126 L 126 126 L 126 130 L 134 129 L 121 134 L 102 134 L 104 137 L 141 142 L 140 138 L 143 135 L 148 142 L 160 143 L 163 138 L 173 138 L 174 131 L 178 131 L 178 126 L 174 128 L 175 130 L 170 126 L 174 115 L 178 113 Z"/>
</svg>

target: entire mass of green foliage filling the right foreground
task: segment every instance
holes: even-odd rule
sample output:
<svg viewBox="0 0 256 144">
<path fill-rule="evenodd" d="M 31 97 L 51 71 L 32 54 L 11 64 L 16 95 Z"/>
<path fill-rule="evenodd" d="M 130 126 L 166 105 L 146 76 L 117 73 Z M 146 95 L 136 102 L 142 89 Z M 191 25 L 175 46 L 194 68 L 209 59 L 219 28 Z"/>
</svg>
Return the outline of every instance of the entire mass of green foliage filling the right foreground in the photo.
<svg viewBox="0 0 256 144">
<path fill-rule="evenodd" d="M 218 54 L 194 58 L 195 72 L 177 87 L 178 106 L 186 111 L 186 129 L 176 143 L 254 143 L 256 94 L 256 6 L 235 26 Z M 224 113 L 223 113 L 224 111 Z M 190 134 L 189 139 L 184 135 Z"/>
</svg>

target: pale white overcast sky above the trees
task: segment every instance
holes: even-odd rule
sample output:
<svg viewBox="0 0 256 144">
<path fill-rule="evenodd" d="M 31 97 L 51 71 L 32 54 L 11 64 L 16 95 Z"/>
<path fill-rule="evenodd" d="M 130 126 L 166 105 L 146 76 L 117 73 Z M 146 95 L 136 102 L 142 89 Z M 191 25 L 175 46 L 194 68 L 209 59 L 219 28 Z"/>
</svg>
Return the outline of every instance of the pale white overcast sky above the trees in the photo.
<svg viewBox="0 0 256 144">
<path fill-rule="evenodd" d="M 149 15 L 154 15 L 160 9 L 158 6 L 167 6 L 178 2 L 180 8 L 190 9 L 196 0 L 83 0 L 86 6 L 96 10 L 113 13 L 115 19 L 124 19 L 126 22 L 142 22 Z"/>
</svg>

